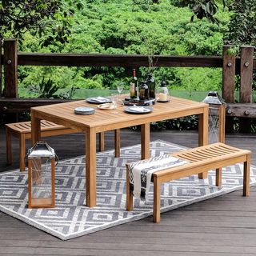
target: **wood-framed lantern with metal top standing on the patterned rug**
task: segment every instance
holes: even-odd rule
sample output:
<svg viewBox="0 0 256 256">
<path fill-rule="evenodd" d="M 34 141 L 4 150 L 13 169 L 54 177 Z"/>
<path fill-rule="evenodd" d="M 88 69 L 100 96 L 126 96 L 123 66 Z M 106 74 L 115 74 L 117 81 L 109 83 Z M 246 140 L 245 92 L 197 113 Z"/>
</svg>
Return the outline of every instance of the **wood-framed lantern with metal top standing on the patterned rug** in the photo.
<svg viewBox="0 0 256 256">
<path fill-rule="evenodd" d="M 54 207 L 55 152 L 46 142 L 28 151 L 29 208 Z"/>
</svg>

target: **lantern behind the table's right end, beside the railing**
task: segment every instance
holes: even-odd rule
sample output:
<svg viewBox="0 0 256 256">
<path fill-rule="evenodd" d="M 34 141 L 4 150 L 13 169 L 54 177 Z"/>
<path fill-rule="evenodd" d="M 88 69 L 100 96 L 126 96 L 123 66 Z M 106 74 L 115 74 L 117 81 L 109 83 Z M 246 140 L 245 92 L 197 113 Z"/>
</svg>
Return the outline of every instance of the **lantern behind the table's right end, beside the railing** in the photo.
<svg viewBox="0 0 256 256">
<path fill-rule="evenodd" d="M 210 91 L 202 102 L 209 104 L 209 144 L 225 142 L 226 103 L 217 91 Z"/>
</svg>

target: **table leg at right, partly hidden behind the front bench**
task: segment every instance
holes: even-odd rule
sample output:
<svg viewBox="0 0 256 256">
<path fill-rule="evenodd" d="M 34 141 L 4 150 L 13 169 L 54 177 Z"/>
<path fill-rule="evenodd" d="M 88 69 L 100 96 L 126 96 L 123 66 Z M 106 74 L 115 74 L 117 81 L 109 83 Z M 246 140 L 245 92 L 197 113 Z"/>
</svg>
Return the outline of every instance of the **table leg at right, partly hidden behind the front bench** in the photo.
<svg viewBox="0 0 256 256">
<path fill-rule="evenodd" d="M 206 146 L 208 144 L 208 106 L 203 110 L 202 114 L 198 114 L 198 146 Z M 198 174 L 198 178 L 207 178 L 208 172 Z"/>
</svg>

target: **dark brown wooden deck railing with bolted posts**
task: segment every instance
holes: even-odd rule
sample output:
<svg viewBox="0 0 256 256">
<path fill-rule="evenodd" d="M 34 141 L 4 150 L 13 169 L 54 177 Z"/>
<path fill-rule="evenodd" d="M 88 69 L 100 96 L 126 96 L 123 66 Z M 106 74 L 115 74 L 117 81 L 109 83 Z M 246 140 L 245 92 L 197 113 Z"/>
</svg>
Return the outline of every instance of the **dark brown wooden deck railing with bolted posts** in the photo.
<svg viewBox="0 0 256 256">
<path fill-rule="evenodd" d="M 1 42 L 0 42 L 1 44 Z M 1 48 L 1 45 L 0 45 Z M 57 102 L 56 99 L 24 99 L 18 98 L 18 65 L 20 66 L 148 66 L 149 56 L 121 54 L 30 54 L 18 53 L 17 41 L 5 40 L 1 54 L 0 66 L 4 66 L 5 93 L 0 99 L 0 111 L 18 113 L 30 110 L 32 106 L 42 106 Z M 2 49 L 2 48 L 1 48 Z M 222 97 L 228 103 L 227 117 L 256 118 L 256 105 L 252 104 L 253 70 L 256 60 L 253 46 L 241 46 L 241 57 L 228 54 L 230 46 L 223 47 L 222 56 L 153 56 L 154 66 L 161 67 L 214 67 L 222 68 Z M 2 69 L 1 69 L 2 70 Z M 2 72 L 0 70 L 0 78 Z M 235 74 L 240 74 L 240 103 L 234 103 Z M 0 79 L 1 81 L 1 79 Z M 227 126 L 232 120 L 227 119 Z"/>
</svg>

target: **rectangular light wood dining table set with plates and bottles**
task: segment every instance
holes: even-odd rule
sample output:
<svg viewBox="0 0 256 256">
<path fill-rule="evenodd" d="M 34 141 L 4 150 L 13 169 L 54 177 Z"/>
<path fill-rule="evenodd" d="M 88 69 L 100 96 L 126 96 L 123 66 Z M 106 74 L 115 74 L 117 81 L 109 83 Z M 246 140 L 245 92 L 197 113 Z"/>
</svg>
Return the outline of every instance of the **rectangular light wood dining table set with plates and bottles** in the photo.
<svg viewBox="0 0 256 256">
<path fill-rule="evenodd" d="M 74 114 L 78 106 L 91 106 L 91 115 Z M 130 114 L 126 106 L 114 110 L 100 110 L 85 100 L 31 108 L 32 145 L 40 141 L 40 120 L 48 120 L 86 134 L 86 206 L 96 206 L 96 134 L 107 130 L 119 130 L 129 126 L 141 126 L 141 158 L 150 158 L 150 122 L 198 115 L 198 146 L 208 144 L 208 105 L 183 98 L 172 97 L 170 102 L 157 102 L 147 114 Z M 67 146 L 67 145 L 65 145 Z M 206 178 L 206 173 L 199 178 Z"/>
</svg>

